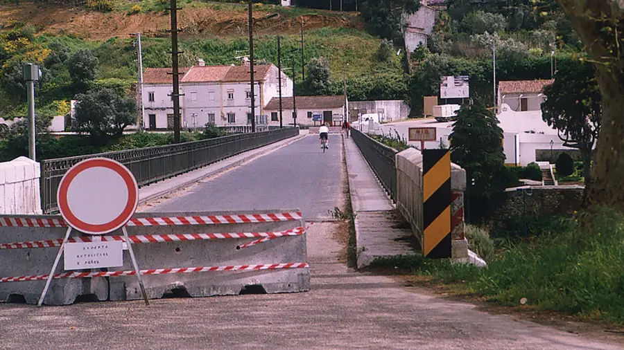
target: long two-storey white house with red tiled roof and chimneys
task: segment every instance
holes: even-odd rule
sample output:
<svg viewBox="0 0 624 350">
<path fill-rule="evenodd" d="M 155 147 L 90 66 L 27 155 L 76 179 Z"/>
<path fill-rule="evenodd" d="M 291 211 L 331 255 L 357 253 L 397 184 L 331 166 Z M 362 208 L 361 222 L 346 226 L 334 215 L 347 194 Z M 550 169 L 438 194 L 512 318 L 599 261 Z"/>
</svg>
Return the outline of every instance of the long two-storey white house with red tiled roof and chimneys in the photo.
<svg viewBox="0 0 624 350">
<path fill-rule="evenodd" d="M 168 68 L 148 68 L 144 73 L 144 127 L 149 130 L 173 129 L 172 79 Z M 180 68 L 180 125 L 186 129 L 212 125 L 251 124 L 250 65 L 206 66 L 198 59 L 195 66 Z M 273 64 L 254 66 L 255 114 L 266 124 L 264 111 L 279 94 L 279 70 Z M 281 94 L 293 95 L 293 81 L 281 73 Z"/>
</svg>

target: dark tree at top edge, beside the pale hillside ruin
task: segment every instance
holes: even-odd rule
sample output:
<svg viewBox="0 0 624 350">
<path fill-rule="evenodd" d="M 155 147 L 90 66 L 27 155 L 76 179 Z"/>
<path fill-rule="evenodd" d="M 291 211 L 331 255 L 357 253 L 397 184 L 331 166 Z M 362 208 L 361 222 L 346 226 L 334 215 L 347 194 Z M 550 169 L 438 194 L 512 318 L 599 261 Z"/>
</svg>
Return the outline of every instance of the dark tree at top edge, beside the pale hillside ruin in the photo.
<svg viewBox="0 0 624 350">
<path fill-rule="evenodd" d="M 403 35 L 405 14 L 412 14 L 419 8 L 419 0 L 366 0 L 362 5 L 362 17 L 370 33 L 391 40 Z"/>
</svg>

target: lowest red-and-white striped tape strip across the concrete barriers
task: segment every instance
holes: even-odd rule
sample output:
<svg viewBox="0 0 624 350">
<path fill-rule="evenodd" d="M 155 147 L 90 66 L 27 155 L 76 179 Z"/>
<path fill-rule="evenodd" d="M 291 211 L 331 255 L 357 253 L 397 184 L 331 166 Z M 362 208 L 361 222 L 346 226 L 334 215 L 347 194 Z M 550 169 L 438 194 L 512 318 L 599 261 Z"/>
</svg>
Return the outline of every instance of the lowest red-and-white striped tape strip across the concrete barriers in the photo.
<svg viewBox="0 0 624 350">
<path fill-rule="evenodd" d="M 155 270 L 140 270 L 141 275 L 166 275 L 171 273 L 205 273 L 211 271 L 258 271 L 258 270 L 280 270 L 287 268 L 309 268 L 308 263 L 287 263 L 287 264 L 258 264 L 258 265 L 234 265 L 234 266 L 209 266 L 196 268 L 159 268 Z M 62 278 L 89 278 L 89 277 L 118 277 L 135 275 L 134 270 L 127 271 L 101 271 L 95 273 L 58 273 L 53 275 L 53 279 Z M 2 277 L 0 283 L 4 282 L 26 282 L 41 281 L 47 279 L 48 275 L 33 275 L 20 277 Z"/>
</svg>

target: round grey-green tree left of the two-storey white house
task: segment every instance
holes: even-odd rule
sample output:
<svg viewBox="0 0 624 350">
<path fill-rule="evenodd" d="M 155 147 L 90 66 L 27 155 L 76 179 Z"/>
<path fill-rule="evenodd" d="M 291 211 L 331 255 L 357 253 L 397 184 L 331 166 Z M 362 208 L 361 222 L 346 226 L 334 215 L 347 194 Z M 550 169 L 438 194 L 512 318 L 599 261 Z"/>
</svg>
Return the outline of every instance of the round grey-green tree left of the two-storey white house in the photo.
<svg viewBox="0 0 624 350">
<path fill-rule="evenodd" d="M 123 129 L 135 122 L 135 100 L 124 98 L 112 89 L 101 88 L 76 95 L 76 131 L 89 133 L 94 138 L 121 136 Z"/>
</svg>

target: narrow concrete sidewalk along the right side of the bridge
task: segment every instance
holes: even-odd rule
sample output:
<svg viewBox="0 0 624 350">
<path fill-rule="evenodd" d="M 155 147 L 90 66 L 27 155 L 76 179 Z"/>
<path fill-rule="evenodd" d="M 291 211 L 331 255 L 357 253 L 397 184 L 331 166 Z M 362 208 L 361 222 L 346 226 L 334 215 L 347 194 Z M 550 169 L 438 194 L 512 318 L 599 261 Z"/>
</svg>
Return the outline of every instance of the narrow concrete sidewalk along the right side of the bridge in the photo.
<svg viewBox="0 0 624 350">
<path fill-rule="evenodd" d="M 376 257 L 413 253 L 409 226 L 395 210 L 381 183 L 352 138 L 344 138 L 347 177 L 355 215 L 357 266 L 370 265 Z"/>
</svg>

